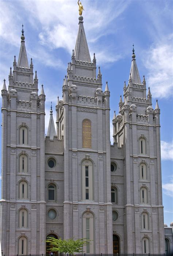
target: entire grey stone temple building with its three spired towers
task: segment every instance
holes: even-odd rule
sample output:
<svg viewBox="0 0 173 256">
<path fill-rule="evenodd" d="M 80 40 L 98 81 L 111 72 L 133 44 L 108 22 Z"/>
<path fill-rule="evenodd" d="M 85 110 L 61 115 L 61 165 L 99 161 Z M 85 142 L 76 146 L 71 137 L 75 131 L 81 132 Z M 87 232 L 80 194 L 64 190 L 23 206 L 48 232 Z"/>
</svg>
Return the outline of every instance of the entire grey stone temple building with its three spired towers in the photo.
<svg viewBox="0 0 173 256">
<path fill-rule="evenodd" d="M 83 18 L 45 138 L 45 93 L 21 37 L 2 89 L 1 247 L 45 253 L 46 237 L 91 239 L 85 252 L 164 253 L 160 110 L 146 96 L 135 54 L 110 144 L 108 83 L 96 75 Z"/>
</svg>

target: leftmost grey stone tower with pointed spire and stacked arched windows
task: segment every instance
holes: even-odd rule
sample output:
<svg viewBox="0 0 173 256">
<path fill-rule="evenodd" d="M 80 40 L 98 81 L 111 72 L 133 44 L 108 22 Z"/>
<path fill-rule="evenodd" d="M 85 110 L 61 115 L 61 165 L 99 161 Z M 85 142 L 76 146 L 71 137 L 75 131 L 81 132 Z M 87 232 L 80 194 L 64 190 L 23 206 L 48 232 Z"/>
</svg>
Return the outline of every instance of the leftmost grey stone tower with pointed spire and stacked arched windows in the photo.
<svg viewBox="0 0 173 256">
<path fill-rule="evenodd" d="M 28 65 L 22 28 L 2 104 L 1 246 L 4 254 L 45 252 L 45 94 Z M 38 248 L 39 244 L 39 248 Z"/>
</svg>

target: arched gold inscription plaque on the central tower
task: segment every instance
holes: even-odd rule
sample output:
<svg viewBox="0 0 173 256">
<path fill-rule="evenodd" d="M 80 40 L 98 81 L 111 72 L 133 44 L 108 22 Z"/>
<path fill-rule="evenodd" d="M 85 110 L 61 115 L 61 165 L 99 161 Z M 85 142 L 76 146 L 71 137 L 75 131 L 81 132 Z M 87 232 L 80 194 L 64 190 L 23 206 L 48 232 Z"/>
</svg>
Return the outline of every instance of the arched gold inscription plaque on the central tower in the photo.
<svg viewBox="0 0 173 256">
<path fill-rule="evenodd" d="M 88 119 L 82 122 L 82 147 L 91 148 L 91 121 Z"/>
</svg>

